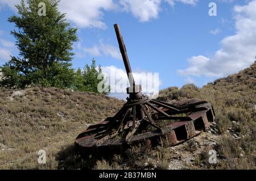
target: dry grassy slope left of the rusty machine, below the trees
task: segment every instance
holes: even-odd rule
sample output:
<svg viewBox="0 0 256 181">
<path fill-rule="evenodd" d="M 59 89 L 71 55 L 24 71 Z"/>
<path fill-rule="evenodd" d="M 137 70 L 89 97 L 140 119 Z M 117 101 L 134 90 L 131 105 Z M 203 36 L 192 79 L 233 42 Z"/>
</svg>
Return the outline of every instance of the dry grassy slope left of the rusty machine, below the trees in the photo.
<svg viewBox="0 0 256 181">
<path fill-rule="evenodd" d="M 0 169 L 57 169 L 62 150 L 89 124 L 113 116 L 121 100 L 60 89 L 0 91 Z M 38 164 L 38 150 L 47 164 Z M 75 162 L 75 160 L 73 160 Z"/>
</svg>

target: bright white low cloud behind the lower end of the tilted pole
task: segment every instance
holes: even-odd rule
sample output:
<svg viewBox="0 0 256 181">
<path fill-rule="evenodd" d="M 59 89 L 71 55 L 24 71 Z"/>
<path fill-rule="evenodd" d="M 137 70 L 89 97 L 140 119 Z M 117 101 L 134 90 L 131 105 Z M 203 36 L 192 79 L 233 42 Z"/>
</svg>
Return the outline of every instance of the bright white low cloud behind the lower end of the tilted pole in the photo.
<svg viewBox="0 0 256 181">
<path fill-rule="evenodd" d="M 126 92 L 126 88 L 129 87 L 129 81 L 125 70 L 115 66 L 105 66 L 102 67 L 102 72 L 109 79 L 109 85 L 112 87 L 111 92 Z M 142 85 L 142 92 L 148 95 L 156 95 L 159 92 L 161 81 L 156 74 L 152 74 L 152 76 L 149 75 L 150 73 L 133 73 L 135 83 Z M 156 75 L 156 77 L 154 77 L 154 75 Z"/>
</svg>

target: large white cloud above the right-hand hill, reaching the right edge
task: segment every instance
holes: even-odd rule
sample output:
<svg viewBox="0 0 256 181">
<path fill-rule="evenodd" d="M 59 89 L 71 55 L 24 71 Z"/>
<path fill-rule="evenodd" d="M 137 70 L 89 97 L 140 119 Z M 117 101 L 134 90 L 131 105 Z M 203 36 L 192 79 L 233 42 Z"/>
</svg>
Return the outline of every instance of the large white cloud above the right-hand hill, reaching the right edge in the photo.
<svg viewBox="0 0 256 181">
<path fill-rule="evenodd" d="M 256 55 L 256 0 L 244 6 L 235 6 L 236 35 L 225 37 L 222 48 L 212 57 L 193 56 L 183 75 L 224 77 L 247 68 Z"/>
</svg>

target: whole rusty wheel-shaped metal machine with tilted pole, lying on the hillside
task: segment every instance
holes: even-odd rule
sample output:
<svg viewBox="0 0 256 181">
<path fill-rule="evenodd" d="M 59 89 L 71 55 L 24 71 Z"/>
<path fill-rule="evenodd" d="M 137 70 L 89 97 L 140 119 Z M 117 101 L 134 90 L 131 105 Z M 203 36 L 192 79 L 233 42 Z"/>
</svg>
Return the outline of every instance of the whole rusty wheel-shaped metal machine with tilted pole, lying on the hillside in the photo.
<svg viewBox="0 0 256 181">
<path fill-rule="evenodd" d="M 114 28 L 129 78 L 129 98 L 114 117 L 79 134 L 75 144 L 80 154 L 104 157 L 138 144 L 150 147 L 165 142 L 175 146 L 207 131 L 215 119 L 212 104 L 196 99 L 166 103 L 142 94 L 141 85 L 135 84 L 118 24 Z"/>
</svg>

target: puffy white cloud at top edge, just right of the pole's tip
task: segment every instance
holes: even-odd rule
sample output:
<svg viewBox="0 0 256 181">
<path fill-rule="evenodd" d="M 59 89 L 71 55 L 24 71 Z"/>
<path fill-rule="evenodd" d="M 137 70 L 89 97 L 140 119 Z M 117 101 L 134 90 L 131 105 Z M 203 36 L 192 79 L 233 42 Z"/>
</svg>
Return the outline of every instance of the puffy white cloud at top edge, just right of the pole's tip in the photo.
<svg viewBox="0 0 256 181">
<path fill-rule="evenodd" d="M 161 0 L 120 0 L 123 10 L 131 12 L 141 22 L 158 18 Z"/>
</svg>

